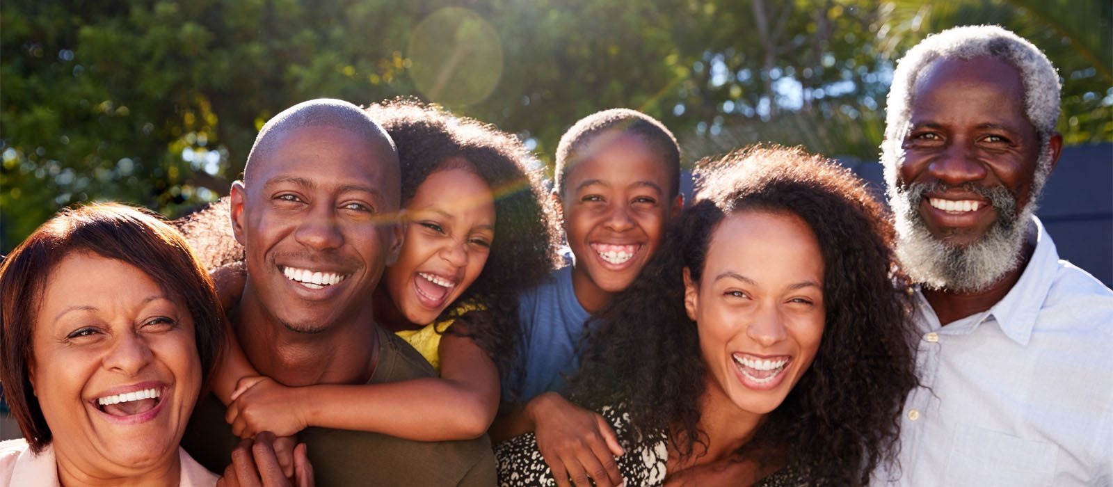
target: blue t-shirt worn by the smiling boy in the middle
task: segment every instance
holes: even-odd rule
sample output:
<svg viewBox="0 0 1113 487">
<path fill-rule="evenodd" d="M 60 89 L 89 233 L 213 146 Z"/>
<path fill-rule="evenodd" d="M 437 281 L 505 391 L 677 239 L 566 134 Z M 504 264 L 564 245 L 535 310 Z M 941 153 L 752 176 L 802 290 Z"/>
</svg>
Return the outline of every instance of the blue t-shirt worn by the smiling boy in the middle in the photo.
<svg viewBox="0 0 1113 487">
<path fill-rule="evenodd" d="M 572 289 L 572 266 L 554 270 L 538 287 L 518 297 L 518 318 L 524 347 L 518 355 L 515 375 L 518 401 L 541 392 L 563 391 L 562 374 L 575 370 L 577 345 L 583 324 L 591 317 Z M 503 398 L 510 398 L 503 385 Z"/>
</svg>

